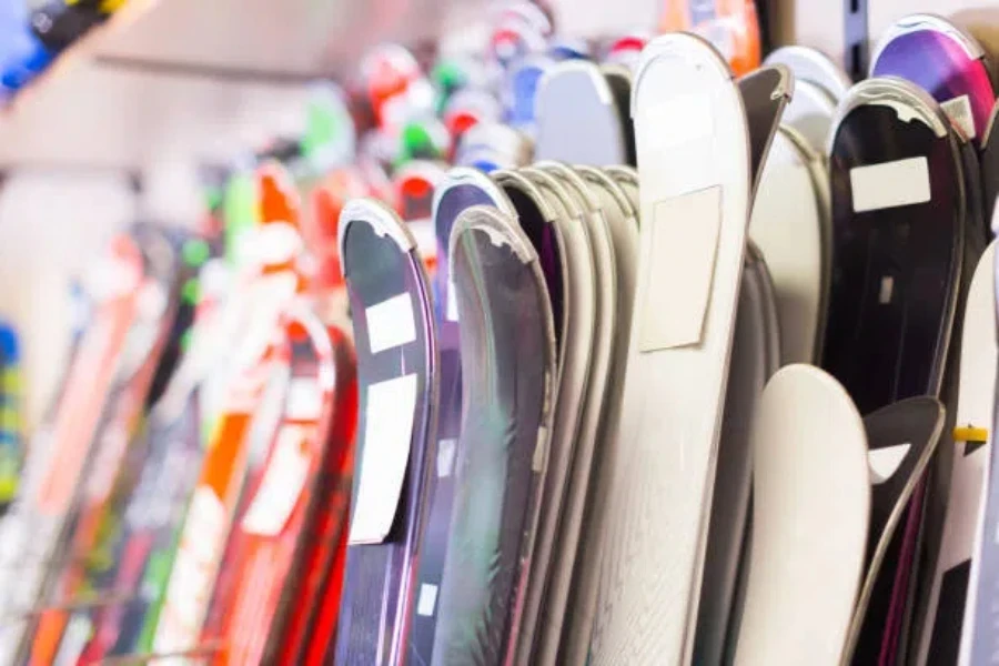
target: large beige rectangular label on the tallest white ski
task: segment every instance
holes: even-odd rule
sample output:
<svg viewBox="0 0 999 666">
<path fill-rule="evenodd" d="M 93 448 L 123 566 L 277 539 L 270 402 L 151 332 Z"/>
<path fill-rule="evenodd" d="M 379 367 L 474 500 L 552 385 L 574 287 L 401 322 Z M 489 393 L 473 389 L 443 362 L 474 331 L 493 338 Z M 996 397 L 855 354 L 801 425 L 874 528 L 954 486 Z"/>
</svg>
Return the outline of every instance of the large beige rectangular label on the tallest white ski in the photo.
<svg viewBox="0 0 999 666">
<path fill-rule="evenodd" d="M 722 229 L 722 188 L 655 204 L 645 249 L 647 275 L 638 349 L 655 352 L 700 343 Z"/>
</svg>

